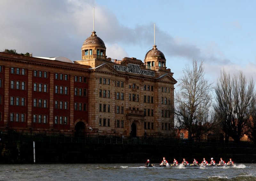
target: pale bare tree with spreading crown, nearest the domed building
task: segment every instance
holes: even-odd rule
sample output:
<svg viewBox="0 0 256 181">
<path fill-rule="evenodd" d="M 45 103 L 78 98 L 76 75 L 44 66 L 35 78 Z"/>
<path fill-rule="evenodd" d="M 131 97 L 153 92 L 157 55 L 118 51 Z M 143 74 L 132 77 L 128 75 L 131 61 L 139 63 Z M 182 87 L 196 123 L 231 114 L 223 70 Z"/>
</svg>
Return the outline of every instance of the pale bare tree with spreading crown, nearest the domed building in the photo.
<svg viewBox="0 0 256 181">
<path fill-rule="evenodd" d="M 200 138 L 206 123 L 212 120 L 212 83 L 204 78 L 203 62 L 193 60 L 193 67 L 186 66 L 178 79 L 175 92 L 176 126 L 188 130 L 188 139 Z M 211 124 L 208 124 L 211 125 Z M 209 127 L 208 127 L 209 128 Z"/>
</svg>

